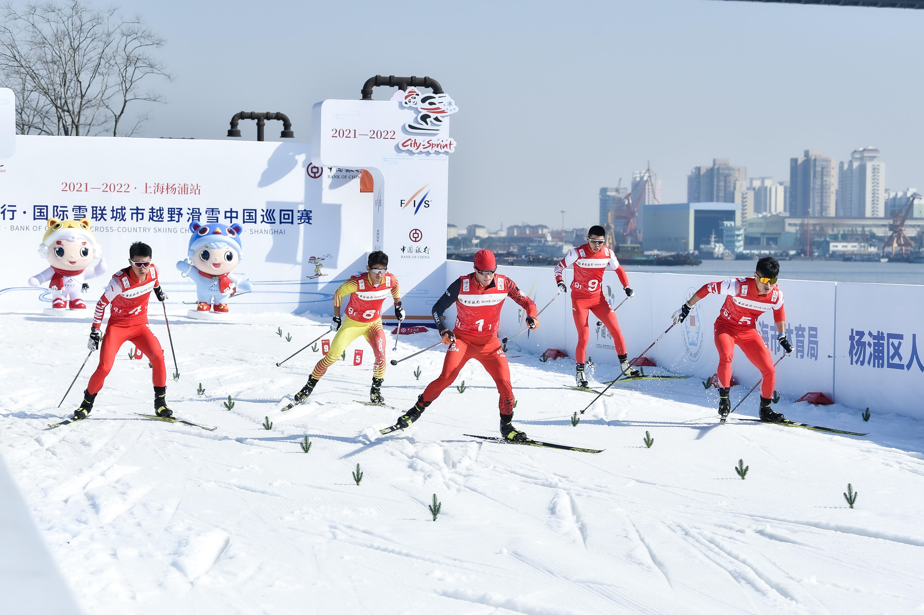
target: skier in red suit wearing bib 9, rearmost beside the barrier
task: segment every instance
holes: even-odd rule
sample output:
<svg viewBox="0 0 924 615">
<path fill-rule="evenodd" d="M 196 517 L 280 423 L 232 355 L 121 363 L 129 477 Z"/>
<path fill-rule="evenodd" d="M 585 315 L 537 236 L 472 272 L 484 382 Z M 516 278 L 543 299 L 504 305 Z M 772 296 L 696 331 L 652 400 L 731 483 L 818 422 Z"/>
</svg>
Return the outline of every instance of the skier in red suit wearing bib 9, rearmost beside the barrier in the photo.
<svg viewBox="0 0 924 615">
<path fill-rule="evenodd" d="M 603 270 L 607 266 L 613 267 L 616 276 L 623 284 L 626 297 L 635 295 L 635 290 L 629 288 L 629 278 L 626 270 L 612 250 L 604 246 L 606 230 L 600 226 L 590 227 L 587 234 L 587 243 L 568 252 L 559 264 L 555 265 L 555 282 L 559 292 L 567 292 L 567 286 L 562 276 L 568 267 L 574 268 L 574 280 L 571 282 L 571 314 L 577 327 L 577 348 L 575 349 L 575 362 L 577 374 L 575 381 L 578 387 L 587 388 L 587 378 L 584 377 L 584 362 L 587 361 L 587 342 L 590 339 L 590 326 L 587 322 L 588 311 L 599 318 L 606 329 L 613 336 L 613 345 L 619 356 L 619 367 L 626 375 L 638 375 L 638 370 L 629 369 L 629 359 L 626 353 L 626 339 L 619 330 L 619 321 L 616 314 L 603 296 Z"/>
</svg>

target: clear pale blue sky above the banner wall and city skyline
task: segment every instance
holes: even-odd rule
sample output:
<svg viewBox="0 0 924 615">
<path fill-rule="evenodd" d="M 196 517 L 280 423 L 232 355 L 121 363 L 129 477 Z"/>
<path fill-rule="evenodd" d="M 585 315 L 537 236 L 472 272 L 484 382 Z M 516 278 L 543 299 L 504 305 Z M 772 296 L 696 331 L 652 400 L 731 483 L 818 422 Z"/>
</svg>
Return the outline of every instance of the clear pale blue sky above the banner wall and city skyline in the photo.
<svg viewBox="0 0 924 615">
<path fill-rule="evenodd" d="M 587 226 L 601 186 L 651 168 L 665 203 L 712 158 L 788 179 L 808 148 L 881 149 L 890 189 L 924 189 L 924 11 L 715 0 L 123 2 L 168 39 L 144 136 L 225 139 L 237 111 L 359 98 L 428 75 L 459 107 L 449 221 Z M 377 89 L 376 98 L 394 90 Z M 254 122 L 242 123 L 247 139 Z M 267 133 L 278 139 L 281 125 Z"/>
</svg>

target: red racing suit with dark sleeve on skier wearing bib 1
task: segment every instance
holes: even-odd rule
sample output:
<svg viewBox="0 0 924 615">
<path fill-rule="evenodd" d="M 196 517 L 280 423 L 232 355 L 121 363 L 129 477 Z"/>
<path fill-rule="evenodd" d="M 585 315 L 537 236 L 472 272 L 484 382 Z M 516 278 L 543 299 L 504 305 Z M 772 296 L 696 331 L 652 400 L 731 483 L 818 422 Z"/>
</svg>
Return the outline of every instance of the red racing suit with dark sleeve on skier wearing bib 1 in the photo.
<svg viewBox="0 0 924 615">
<path fill-rule="evenodd" d="M 536 304 L 520 294 L 512 279 L 501 274 L 495 274 L 487 287 L 479 285 L 474 273 L 459 277 L 436 302 L 432 314 L 441 333 L 449 328 L 445 325 L 443 313 L 456 303 L 456 326 L 453 329 L 456 341 L 446 350 L 443 372 L 420 395 L 424 407 L 456 381 L 456 376 L 469 359 L 475 359 L 494 379 L 500 394 L 497 405 L 501 414 L 505 417 L 513 415 L 514 389 L 510 384 L 510 366 L 501 340 L 497 338 L 501 308 L 507 297 L 517 301 L 527 315 L 536 315 Z"/>
</svg>

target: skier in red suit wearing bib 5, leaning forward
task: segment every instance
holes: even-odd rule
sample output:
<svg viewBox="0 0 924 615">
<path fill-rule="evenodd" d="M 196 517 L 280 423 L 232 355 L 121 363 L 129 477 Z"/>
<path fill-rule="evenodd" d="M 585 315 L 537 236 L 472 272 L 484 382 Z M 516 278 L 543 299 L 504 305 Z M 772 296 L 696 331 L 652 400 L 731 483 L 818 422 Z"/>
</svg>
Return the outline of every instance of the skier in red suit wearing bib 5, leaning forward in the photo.
<svg viewBox="0 0 924 615">
<path fill-rule="evenodd" d="M 732 403 L 728 399 L 728 389 L 732 382 L 732 355 L 735 345 L 744 351 L 748 361 L 760 369 L 763 381 L 760 383 L 760 420 L 783 422 L 785 417 L 770 408 L 773 397 L 775 373 L 770 350 L 760 338 L 757 319 L 760 314 L 773 313 L 776 323 L 777 340 L 789 354 L 793 345 L 786 339 L 786 314 L 783 309 L 783 292 L 776 287 L 776 278 L 780 275 L 780 264 L 772 256 L 765 256 L 757 262 L 754 277 L 736 277 L 723 282 L 710 282 L 674 313 L 674 322 L 682 323 L 690 313 L 690 308 L 697 301 L 710 293 L 725 295 L 725 302 L 719 317 L 715 319 L 715 347 L 719 351 L 719 414 L 728 416 Z"/>
</svg>

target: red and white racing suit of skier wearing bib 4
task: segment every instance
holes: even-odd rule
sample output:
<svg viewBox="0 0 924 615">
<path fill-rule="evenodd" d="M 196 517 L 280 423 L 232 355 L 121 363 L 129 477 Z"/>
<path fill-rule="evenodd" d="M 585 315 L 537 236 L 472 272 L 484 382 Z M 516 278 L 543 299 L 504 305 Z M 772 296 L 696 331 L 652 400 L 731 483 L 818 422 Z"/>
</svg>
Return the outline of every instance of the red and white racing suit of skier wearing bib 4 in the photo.
<svg viewBox="0 0 924 615">
<path fill-rule="evenodd" d="M 99 329 L 103 324 L 106 305 L 110 306 L 110 314 L 103 341 L 100 343 L 100 364 L 96 366 L 96 370 L 90 376 L 90 384 L 87 385 L 87 391 L 91 395 L 99 393 L 103 388 L 103 381 L 116 361 L 116 354 L 127 341 L 135 344 L 151 361 L 154 387 L 166 386 L 164 350 L 148 325 L 148 301 L 152 289 L 156 286 L 160 286 L 157 267 L 148 267 L 148 277 L 139 281 L 135 279 L 129 266 L 116 272 L 103 290 L 103 296 L 96 302 L 93 327 Z"/>
</svg>

